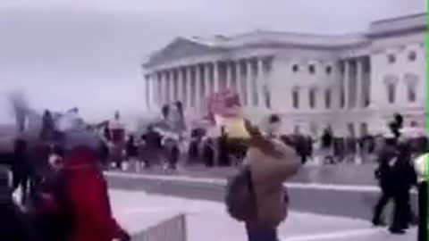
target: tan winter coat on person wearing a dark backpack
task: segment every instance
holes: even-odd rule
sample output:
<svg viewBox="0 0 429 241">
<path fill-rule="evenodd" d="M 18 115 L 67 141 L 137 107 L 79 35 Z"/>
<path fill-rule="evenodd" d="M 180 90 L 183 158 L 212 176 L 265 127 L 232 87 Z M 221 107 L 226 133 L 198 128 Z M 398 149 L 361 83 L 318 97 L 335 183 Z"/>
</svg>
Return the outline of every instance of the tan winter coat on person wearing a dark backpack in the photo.
<svg viewBox="0 0 429 241">
<path fill-rule="evenodd" d="M 259 227 L 277 228 L 287 216 L 287 204 L 284 201 L 283 183 L 294 175 L 300 167 L 295 150 L 282 142 L 273 141 L 282 158 L 262 153 L 257 148 L 250 148 L 246 163 L 250 166 L 253 185 L 257 195 L 257 220 L 249 224 Z"/>
</svg>

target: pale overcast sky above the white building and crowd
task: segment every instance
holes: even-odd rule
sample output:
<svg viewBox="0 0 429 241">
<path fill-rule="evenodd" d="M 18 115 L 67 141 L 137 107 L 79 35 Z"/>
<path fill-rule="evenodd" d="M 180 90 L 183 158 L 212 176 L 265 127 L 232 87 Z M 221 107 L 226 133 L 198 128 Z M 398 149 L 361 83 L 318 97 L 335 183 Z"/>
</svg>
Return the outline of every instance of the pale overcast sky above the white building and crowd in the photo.
<svg viewBox="0 0 429 241">
<path fill-rule="evenodd" d="M 78 105 L 88 118 L 143 112 L 139 66 L 177 36 L 345 33 L 424 11 L 425 0 L 1 0 L 0 123 L 13 88 L 37 107 Z"/>
</svg>

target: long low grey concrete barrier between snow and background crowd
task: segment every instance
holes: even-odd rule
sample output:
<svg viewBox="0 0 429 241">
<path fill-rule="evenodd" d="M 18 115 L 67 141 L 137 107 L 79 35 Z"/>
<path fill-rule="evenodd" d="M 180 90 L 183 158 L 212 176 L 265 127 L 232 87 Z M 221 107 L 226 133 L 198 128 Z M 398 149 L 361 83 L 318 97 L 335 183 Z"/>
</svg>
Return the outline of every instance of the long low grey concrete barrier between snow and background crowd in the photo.
<svg viewBox="0 0 429 241">
<path fill-rule="evenodd" d="M 158 195 L 223 202 L 226 179 L 106 173 L 110 187 L 144 190 Z M 299 212 L 370 220 L 380 195 L 376 186 L 288 183 L 290 208 Z M 416 210 L 416 192 L 411 204 Z"/>
</svg>

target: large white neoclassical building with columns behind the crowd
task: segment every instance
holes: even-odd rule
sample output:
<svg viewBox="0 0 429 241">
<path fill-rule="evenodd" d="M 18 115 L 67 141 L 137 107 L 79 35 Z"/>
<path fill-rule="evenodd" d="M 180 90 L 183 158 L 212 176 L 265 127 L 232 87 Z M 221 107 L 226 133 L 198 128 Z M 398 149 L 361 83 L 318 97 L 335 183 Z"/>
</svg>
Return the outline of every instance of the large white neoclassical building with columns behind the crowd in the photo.
<svg viewBox="0 0 429 241">
<path fill-rule="evenodd" d="M 324 36 L 257 30 L 177 37 L 143 64 L 150 110 L 180 100 L 187 117 L 235 90 L 249 119 L 282 115 L 284 132 L 338 136 L 380 131 L 394 112 L 425 126 L 425 13 L 374 21 L 366 32 Z"/>
</svg>

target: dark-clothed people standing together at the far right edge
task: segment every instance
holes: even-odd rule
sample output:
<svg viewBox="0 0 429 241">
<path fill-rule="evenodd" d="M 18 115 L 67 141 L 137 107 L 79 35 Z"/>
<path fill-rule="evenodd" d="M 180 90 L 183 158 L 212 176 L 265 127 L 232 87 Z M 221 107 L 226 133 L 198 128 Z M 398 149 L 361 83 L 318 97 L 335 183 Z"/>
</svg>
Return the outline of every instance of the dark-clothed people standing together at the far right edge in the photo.
<svg viewBox="0 0 429 241">
<path fill-rule="evenodd" d="M 382 190 L 382 195 L 374 207 L 374 226 L 384 226 L 385 221 L 381 218 L 383 208 L 389 201 L 393 201 L 393 219 L 389 225 L 389 230 L 394 234 L 404 234 L 410 225 L 419 221 L 418 240 L 425 240 L 427 237 L 427 213 L 423 212 L 427 203 L 419 202 L 419 215 L 416 215 L 410 204 L 410 191 L 412 187 L 417 187 L 419 171 L 415 161 L 422 155 L 428 153 L 428 142 L 426 137 L 408 138 L 401 133 L 403 120 L 398 114 L 395 120 L 390 123 L 391 135 L 384 139 L 384 145 L 378 152 L 378 168 L 375 170 L 375 178 L 378 179 Z M 427 173 L 420 173 L 425 179 Z M 420 199 L 427 190 L 420 190 Z M 427 199 L 425 199 L 427 200 Z"/>
</svg>

